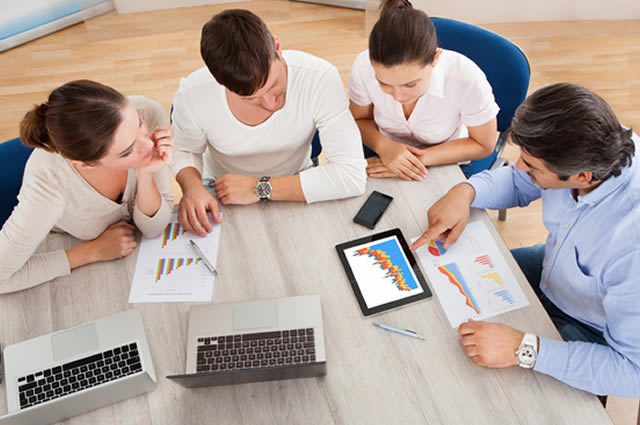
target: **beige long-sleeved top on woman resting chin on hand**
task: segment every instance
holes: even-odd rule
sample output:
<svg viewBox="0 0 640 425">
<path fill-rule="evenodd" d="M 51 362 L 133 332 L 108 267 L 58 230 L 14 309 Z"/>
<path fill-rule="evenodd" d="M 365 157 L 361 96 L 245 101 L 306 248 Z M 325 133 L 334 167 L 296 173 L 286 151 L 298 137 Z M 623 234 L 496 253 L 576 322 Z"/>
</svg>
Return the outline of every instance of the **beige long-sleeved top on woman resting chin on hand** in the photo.
<svg viewBox="0 0 640 425">
<path fill-rule="evenodd" d="M 166 125 L 162 107 L 141 96 L 129 97 L 149 131 Z M 171 218 L 173 195 L 168 168 L 153 175 L 162 196 L 160 209 L 148 217 L 136 206 L 137 181 L 129 170 L 122 202 L 98 193 L 62 156 L 35 149 L 27 161 L 18 205 L 0 230 L 0 293 L 30 288 L 71 273 L 63 249 L 34 254 L 49 232 L 93 240 L 110 225 L 132 221 L 144 236 L 154 237 Z"/>
</svg>

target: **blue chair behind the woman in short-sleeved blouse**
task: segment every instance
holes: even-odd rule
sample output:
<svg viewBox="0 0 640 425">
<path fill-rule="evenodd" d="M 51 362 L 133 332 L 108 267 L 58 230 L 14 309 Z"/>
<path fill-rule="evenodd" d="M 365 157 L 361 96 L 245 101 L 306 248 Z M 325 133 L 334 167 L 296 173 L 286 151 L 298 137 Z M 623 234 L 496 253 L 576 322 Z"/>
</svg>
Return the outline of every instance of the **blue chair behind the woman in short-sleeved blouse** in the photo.
<svg viewBox="0 0 640 425">
<path fill-rule="evenodd" d="M 462 53 L 474 61 L 487 76 L 500 106 L 500 136 L 496 148 L 488 157 L 471 161 L 470 174 L 507 165 L 500 155 L 506 145 L 506 131 L 511 127 L 513 115 L 529 89 L 531 69 L 527 57 L 518 46 L 484 28 L 446 18 L 431 18 L 431 21 L 438 35 L 438 46 Z M 498 218 L 505 220 L 506 211 L 500 210 Z"/>
</svg>

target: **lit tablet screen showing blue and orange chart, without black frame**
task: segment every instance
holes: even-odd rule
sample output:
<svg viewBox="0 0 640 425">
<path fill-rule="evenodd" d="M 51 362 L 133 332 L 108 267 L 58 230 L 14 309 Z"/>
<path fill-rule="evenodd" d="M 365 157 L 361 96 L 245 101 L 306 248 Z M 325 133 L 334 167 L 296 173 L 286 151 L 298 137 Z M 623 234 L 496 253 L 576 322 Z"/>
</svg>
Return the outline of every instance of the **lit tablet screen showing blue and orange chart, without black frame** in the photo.
<svg viewBox="0 0 640 425">
<path fill-rule="evenodd" d="M 344 251 L 368 308 L 424 292 L 396 236 Z"/>
</svg>

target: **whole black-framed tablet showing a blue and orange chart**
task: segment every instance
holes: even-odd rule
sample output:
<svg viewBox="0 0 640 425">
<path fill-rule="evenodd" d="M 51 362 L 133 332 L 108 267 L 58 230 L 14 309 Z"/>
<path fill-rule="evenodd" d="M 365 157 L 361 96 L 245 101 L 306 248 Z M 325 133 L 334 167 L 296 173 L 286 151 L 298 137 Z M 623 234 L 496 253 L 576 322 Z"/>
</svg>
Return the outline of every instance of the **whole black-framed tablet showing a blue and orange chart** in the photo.
<svg viewBox="0 0 640 425">
<path fill-rule="evenodd" d="M 365 316 L 431 297 L 400 229 L 345 242 L 336 250 Z"/>
</svg>

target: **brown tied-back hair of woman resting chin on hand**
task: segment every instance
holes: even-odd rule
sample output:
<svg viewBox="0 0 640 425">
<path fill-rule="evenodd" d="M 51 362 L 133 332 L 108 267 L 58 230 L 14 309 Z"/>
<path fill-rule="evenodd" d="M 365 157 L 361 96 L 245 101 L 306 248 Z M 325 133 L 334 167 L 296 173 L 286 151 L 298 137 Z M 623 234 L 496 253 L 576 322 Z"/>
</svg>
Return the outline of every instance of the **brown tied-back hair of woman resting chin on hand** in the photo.
<svg viewBox="0 0 640 425">
<path fill-rule="evenodd" d="M 126 103 L 111 87 L 89 80 L 71 81 L 26 113 L 20 122 L 20 139 L 27 146 L 68 159 L 97 161 L 113 143 Z"/>
</svg>

